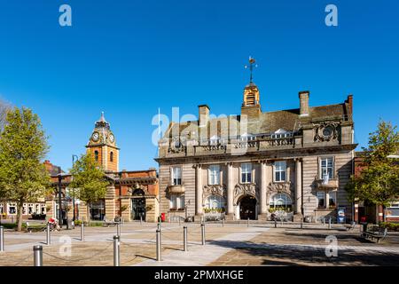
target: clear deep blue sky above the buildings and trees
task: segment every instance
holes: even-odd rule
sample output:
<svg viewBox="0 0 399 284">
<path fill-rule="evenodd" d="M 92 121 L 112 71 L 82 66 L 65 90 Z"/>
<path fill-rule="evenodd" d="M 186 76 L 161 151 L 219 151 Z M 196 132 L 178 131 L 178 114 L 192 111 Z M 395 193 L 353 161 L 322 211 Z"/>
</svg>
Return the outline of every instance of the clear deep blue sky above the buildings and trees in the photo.
<svg viewBox="0 0 399 284">
<path fill-rule="evenodd" d="M 59 26 L 61 4 L 73 27 Z M 353 93 L 365 146 L 379 118 L 399 124 L 398 29 L 395 0 L 0 0 L 0 96 L 40 115 L 51 162 L 70 168 L 105 111 L 121 169 L 144 170 L 158 107 L 239 114 L 252 55 L 263 111 L 297 108 L 298 91 L 311 106 Z"/>
</svg>

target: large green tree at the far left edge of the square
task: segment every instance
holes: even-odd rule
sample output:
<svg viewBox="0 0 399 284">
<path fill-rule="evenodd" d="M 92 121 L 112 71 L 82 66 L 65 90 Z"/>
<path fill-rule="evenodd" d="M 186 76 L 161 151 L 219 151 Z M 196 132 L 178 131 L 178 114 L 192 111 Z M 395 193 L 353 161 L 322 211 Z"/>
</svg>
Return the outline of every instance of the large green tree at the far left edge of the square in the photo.
<svg viewBox="0 0 399 284">
<path fill-rule="evenodd" d="M 50 177 L 42 163 L 49 150 L 37 114 L 22 107 L 7 112 L 0 133 L 0 196 L 17 203 L 18 231 L 26 202 L 45 196 Z"/>
</svg>

